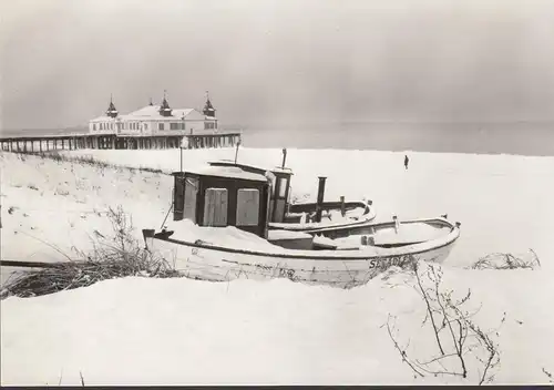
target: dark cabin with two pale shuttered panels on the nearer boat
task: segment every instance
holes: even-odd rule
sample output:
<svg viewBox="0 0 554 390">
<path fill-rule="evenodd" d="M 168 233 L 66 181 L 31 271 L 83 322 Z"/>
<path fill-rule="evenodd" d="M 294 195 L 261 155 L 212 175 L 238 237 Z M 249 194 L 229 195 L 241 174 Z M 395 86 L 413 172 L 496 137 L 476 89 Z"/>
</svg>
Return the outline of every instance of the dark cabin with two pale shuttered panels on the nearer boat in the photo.
<svg viewBox="0 0 554 390">
<path fill-rule="evenodd" d="M 235 226 L 267 238 L 270 179 L 239 165 L 211 164 L 175 172 L 173 219 L 199 226 Z"/>
</svg>

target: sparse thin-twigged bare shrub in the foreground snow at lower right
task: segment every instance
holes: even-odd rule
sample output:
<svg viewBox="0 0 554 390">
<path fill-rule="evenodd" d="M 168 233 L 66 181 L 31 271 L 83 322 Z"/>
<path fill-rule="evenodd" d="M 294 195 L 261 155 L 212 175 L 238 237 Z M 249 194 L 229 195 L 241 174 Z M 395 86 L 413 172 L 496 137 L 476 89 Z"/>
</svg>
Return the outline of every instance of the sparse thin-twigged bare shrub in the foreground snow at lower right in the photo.
<svg viewBox="0 0 554 390">
<path fill-rule="evenodd" d="M 413 271 L 416 284 L 412 287 L 425 306 L 422 327 L 427 325 L 431 332 L 437 353 L 425 359 L 413 358 L 416 352 L 408 352 L 408 346 L 400 346 L 399 329 L 391 320 L 396 317 L 389 315 L 387 330 L 402 361 L 417 377 L 450 376 L 475 380 L 479 384 L 491 382 L 494 379 L 493 371 L 500 365 L 499 346 L 491 338 L 494 331 L 485 332 L 473 321 L 476 311 L 464 308 L 471 300 L 471 290 L 455 299 L 452 290 L 443 290 L 440 268 L 428 266 L 427 270 L 420 273 L 418 263 L 414 263 Z M 501 325 L 504 320 L 505 314 Z"/>
</svg>

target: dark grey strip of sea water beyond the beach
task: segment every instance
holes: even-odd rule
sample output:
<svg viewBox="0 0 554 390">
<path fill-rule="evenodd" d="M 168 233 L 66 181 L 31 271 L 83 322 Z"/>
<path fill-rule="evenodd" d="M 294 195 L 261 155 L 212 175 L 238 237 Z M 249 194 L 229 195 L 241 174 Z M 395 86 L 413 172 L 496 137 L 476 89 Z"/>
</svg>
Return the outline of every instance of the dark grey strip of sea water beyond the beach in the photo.
<svg viewBox="0 0 554 390">
<path fill-rule="evenodd" d="M 2 136 L 78 132 L 83 131 L 3 131 Z M 243 130 L 243 145 L 554 156 L 554 122 L 366 122 L 309 126 L 249 126 Z"/>
</svg>

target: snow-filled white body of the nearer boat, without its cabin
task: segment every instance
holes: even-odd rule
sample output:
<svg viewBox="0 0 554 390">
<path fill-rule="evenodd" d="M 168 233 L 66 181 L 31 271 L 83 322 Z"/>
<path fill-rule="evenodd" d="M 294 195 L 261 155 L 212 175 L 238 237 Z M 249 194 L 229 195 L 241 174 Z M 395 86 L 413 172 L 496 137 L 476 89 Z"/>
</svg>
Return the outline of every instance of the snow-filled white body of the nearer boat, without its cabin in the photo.
<svg viewBox="0 0 554 390">
<path fill-rule="evenodd" d="M 442 217 L 371 223 L 351 228 L 351 234 L 346 230 L 328 228 L 316 236 L 269 230 L 264 239 L 235 227 L 191 223 L 183 224 L 179 232 L 143 234 L 150 252 L 192 278 L 288 278 L 340 288 L 363 285 L 391 266 L 406 267 L 418 260 L 440 264 L 460 236 L 460 225 Z M 338 237 L 330 238 L 334 235 Z"/>
</svg>

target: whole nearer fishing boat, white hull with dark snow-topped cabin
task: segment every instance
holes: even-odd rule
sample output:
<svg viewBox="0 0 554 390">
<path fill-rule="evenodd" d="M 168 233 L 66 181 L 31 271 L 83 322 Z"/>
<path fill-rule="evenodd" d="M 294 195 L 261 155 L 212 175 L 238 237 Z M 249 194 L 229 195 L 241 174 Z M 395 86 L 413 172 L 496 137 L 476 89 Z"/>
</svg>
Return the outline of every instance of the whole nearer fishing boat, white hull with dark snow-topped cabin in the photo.
<svg viewBox="0 0 554 390">
<path fill-rule="evenodd" d="M 225 163 L 173 176 L 173 220 L 158 232 L 143 229 L 143 236 L 150 252 L 198 279 L 285 277 L 348 288 L 391 266 L 442 263 L 460 236 L 460 224 L 447 215 L 302 232 L 273 228 L 278 207 L 268 172 Z"/>
</svg>

